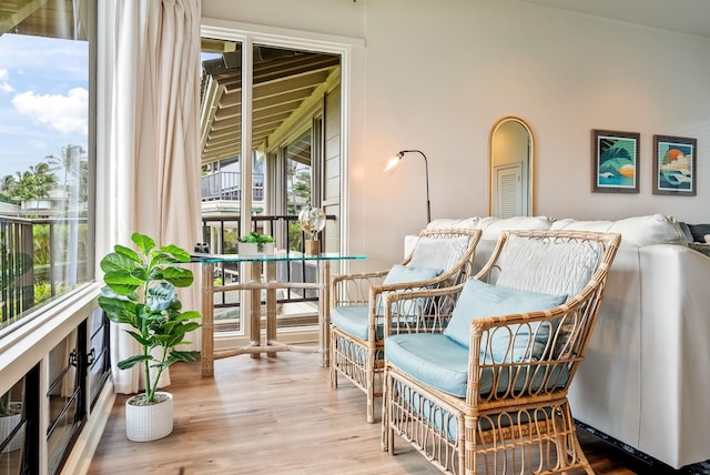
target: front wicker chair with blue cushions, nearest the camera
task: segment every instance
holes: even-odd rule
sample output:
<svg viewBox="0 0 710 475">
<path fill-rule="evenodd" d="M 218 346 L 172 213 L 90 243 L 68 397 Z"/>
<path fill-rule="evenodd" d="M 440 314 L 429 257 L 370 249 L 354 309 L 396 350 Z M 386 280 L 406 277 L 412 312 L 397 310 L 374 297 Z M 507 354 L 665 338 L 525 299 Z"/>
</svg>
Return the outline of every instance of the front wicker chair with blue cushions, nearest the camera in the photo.
<svg viewBox="0 0 710 475">
<path fill-rule="evenodd" d="M 445 473 L 594 473 L 567 390 L 620 239 L 506 231 L 467 282 L 388 294 L 383 449 L 394 454 L 397 433 Z M 448 320 L 444 331 L 409 331 L 399 317 L 398 309 L 424 297 Z"/>
</svg>

